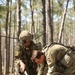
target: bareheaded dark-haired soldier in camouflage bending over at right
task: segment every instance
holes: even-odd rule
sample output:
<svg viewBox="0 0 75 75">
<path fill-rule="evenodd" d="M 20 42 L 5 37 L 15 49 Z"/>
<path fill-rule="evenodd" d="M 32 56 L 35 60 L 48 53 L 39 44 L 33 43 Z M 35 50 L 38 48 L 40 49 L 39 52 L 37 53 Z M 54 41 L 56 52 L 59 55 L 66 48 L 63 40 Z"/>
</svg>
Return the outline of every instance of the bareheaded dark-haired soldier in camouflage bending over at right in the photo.
<svg viewBox="0 0 75 75">
<path fill-rule="evenodd" d="M 63 45 L 35 50 L 32 60 L 39 64 L 37 75 L 75 75 L 75 52 Z"/>
</svg>

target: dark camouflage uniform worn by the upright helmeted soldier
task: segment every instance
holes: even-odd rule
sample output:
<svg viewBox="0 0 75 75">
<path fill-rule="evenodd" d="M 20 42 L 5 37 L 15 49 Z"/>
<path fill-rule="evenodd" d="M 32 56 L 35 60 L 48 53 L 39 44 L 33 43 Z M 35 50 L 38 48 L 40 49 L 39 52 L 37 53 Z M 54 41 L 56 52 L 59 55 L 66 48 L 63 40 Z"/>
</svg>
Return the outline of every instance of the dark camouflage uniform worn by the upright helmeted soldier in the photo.
<svg viewBox="0 0 75 75">
<path fill-rule="evenodd" d="M 25 31 L 24 31 L 25 32 Z M 24 33 L 23 32 L 23 33 Z M 28 34 L 28 32 L 27 32 Z M 15 75 L 21 75 L 19 73 L 19 61 L 22 61 L 25 63 L 26 68 L 25 70 L 27 71 L 28 75 L 36 75 L 36 64 L 31 61 L 31 56 L 33 50 L 41 50 L 42 46 L 41 44 L 37 43 L 35 44 L 33 41 L 31 41 L 31 36 L 26 37 L 26 40 L 30 40 L 30 45 L 28 47 L 24 46 L 24 43 L 22 40 L 24 40 L 24 37 L 20 35 L 20 42 L 17 44 L 15 48 Z M 18 74 L 17 74 L 18 73 Z M 22 74 L 23 75 L 23 74 Z"/>
</svg>

